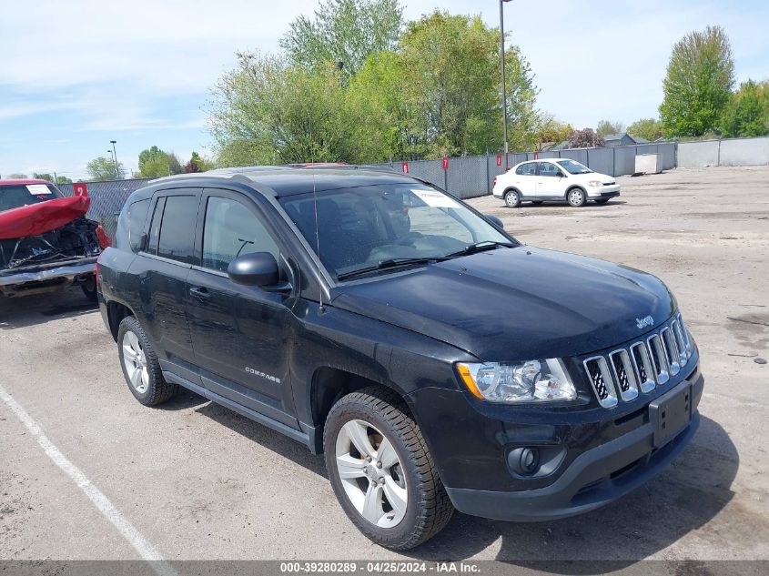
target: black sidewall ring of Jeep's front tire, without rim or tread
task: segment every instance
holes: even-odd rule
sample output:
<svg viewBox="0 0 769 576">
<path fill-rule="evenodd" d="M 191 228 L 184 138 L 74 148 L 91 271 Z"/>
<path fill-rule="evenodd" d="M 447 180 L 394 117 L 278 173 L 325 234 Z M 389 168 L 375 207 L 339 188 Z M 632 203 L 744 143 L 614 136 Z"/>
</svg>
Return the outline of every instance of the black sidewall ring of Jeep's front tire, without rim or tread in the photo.
<svg viewBox="0 0 769 576">
<path fill-rule="evenodd" d="M 406 475 L 408 504 L 406 506 L 406 515 L 403 517 L 403 520 L 400 520 L 400 523 L 393 528 L 379 528 L 379 526 L 375 526 L 371 524 L 369 520 L 363 518 L 349 500 L 349 497 L 342 486 L 342 482 L 339 479 L 339 472 L 336 464 L 337 436 L 339 435 L 339 430 L 342 426 L 352 419 L 362 419 L 375 426 L 388 440 L 390 440 L 393 448 L 395 448 L 395 451 L 398 453 L 401 469 Z M 342 509 L 345 510 L 349 519 L 358 527 L 359 531 L 363 532 L 369 539 L 385 547 L 389 547 L 389 542 L 391 542 L 390 545 L 397 548 L 400 541 L 409 539 L 416 528 L 417 520 L 419 518 L 420 478 L 417 475 L 416 468 L 412 465 L 410 460 L 410 450 L 397 431 L 392 429 L 390 422 L 387 419 L 384 419 L 376 410 L 369 409 L 365 404 L 348 403 L 339 410 L 335 411 L 332 409 L 326 423 L 323 440 L 324 456 L 326 459 L 326 467 L 329 471 L 331 486 L 334 489 L 334 493 L 337 495 L 337 499 L 339 500 Z"/>
</svg>

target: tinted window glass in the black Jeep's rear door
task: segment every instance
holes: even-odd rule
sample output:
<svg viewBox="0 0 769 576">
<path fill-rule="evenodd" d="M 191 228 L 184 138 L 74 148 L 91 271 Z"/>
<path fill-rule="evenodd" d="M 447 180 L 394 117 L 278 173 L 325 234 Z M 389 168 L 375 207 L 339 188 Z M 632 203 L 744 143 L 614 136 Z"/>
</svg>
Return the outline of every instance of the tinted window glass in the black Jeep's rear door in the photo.
<svg viewBox="0 0 769 576">
<path fill-rule="evenodd" d="M 197 197 L 169 196 L 157 241 L 157 256 L 194 264 Z"/>
</svg>

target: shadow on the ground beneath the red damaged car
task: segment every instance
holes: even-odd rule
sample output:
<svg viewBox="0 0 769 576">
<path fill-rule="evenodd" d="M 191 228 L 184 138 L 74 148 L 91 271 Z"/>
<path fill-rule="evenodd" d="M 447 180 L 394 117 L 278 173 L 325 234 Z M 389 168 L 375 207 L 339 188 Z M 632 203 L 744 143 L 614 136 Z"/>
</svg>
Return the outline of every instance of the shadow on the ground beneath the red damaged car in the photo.
<svg viewBox="0 0 769 576">
<path fill-rule="evenodd" d="M 97 310 L 96 302 L 86 299 L 80 288 L 0 298 L 0 330 L 25 328 L 57 318 L 75 318 Z"/>
</svg>

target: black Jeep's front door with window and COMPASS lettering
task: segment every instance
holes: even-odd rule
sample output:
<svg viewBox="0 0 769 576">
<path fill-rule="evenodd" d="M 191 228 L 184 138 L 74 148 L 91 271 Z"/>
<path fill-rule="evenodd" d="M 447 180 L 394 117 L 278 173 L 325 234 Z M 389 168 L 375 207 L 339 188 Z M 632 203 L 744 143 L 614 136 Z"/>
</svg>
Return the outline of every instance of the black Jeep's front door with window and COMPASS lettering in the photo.
<svg viewBox="0 0 769 576">
<path fill-rule="evenodd" d="M 256 202 L 229 190 L 204 190 L 198 227 L 202 259 L 187 277 L 187 317 L 203 384 L 298 428 L 290 416 L 288 381 L 288 335 L 295 321 L 288 303 L 293 300 L 238 285 L 227 275 L 229 263 L 248 252 L 269 252 L 280 262 L 278 244 Z"/>
</svg>

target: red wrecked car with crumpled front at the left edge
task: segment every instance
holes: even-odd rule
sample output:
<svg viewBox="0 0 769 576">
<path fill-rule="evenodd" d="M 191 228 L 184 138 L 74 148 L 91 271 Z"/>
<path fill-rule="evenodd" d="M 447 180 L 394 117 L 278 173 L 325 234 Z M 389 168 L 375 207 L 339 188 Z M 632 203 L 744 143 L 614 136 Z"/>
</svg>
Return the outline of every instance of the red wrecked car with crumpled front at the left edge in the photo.
<svg viewBox="0 0 769 576">
<path fill-rule="evenodd" d="M 96 301 L 96 258 L 108 240 L 85 217 L 84 191 L 64 197 L 46 180 L 0 180 L 0 296 L 79 284 Z"/>
</svg>

